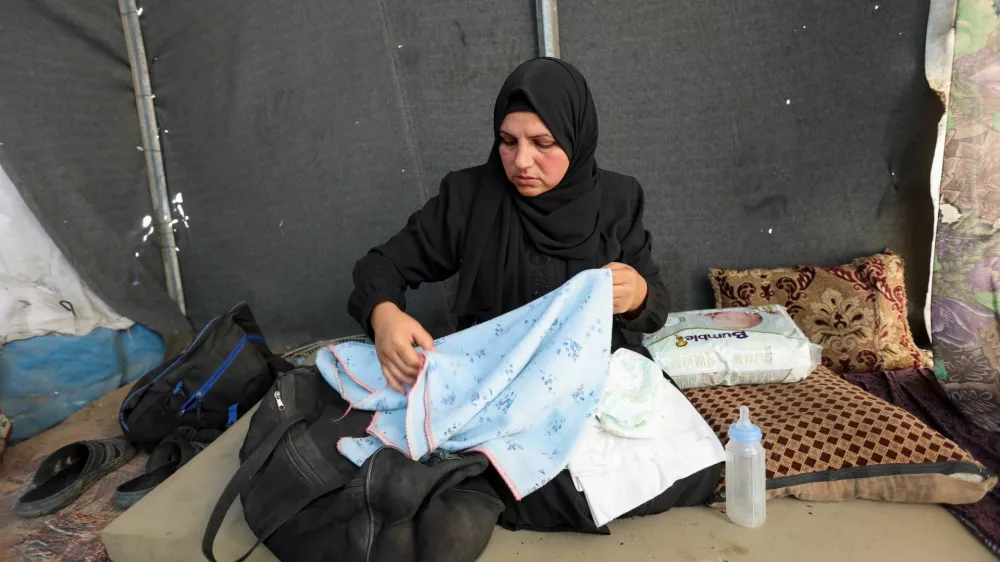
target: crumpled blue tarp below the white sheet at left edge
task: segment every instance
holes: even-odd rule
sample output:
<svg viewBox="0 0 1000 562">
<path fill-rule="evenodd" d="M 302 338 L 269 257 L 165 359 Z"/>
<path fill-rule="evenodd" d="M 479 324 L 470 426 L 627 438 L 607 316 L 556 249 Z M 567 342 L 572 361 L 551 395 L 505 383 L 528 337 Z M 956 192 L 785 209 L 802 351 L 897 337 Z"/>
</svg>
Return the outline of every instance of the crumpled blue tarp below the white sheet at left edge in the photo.
<svg viewBox="0 0 1000 562">
<path fill-rule="evenodd" d="M 0 347 L 0 410 L 14 440 L 33 437 L 163 362 L 163 339 L 135 324 L 86 336 L 49 335 Z"/>
</svg>

